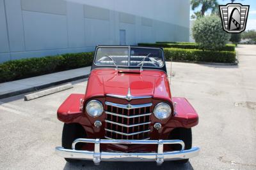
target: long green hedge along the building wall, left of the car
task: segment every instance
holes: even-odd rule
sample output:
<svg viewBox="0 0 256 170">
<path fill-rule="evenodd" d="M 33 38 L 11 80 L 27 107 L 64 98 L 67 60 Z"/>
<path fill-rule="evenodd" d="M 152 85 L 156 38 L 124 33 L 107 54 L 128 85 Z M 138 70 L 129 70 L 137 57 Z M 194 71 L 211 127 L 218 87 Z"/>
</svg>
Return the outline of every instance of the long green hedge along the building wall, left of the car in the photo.
<svg viewBox="0 0 256 170">
<path fill-rule="evenodd" d="M 93 52 L 10 60 L 0 64 L 0 83 L 92 65 Z"/>
</svg>

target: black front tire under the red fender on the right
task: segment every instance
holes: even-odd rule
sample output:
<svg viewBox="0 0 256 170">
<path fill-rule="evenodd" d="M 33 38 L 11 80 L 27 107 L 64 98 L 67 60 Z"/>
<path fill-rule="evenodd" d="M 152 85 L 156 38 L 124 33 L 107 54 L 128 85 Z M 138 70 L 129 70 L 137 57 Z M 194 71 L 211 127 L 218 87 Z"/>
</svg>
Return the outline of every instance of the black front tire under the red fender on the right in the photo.
<svg viewBox="0 0 256 170">
<path fill-rule="evenodd" d="M 192 131 L 191 128 L 176 128 L 170 133 L 170 139 L 180 139 L 185 144 L 185 150 L 189 150 L 192 147 Z M 173 150 L 181 150 L 180 145 L 172 145 Z M 174 160 L 177 164 L 185 164 L 189 159 Z"/>
</svg>

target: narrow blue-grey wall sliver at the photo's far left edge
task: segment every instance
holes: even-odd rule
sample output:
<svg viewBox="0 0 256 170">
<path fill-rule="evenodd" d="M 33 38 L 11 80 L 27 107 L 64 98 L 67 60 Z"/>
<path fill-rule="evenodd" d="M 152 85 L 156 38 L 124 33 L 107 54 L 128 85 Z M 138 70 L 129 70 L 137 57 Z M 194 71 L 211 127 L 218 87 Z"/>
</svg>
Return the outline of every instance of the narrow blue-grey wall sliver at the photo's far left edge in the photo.
<svg viewBox="0 0 256 170">
<path fill-rule="evenodd" d="M 0 53 L 9 52 L 8 32 L 6 27 L 4 0 L 0 0 Z"/>
</svg>

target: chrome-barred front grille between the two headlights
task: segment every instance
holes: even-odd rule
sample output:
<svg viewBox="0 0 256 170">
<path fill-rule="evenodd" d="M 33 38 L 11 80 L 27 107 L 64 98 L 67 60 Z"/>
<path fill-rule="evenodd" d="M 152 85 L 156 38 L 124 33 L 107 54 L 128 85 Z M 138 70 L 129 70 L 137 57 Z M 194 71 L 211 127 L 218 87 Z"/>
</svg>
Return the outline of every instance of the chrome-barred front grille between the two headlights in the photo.
<svg viewBox="0 0 256 170">
<path fill-rule="evenodd" d="M 106 102 L 105 137 L 107 139 L 149 139 L 150 106 Z"/>
</svg>

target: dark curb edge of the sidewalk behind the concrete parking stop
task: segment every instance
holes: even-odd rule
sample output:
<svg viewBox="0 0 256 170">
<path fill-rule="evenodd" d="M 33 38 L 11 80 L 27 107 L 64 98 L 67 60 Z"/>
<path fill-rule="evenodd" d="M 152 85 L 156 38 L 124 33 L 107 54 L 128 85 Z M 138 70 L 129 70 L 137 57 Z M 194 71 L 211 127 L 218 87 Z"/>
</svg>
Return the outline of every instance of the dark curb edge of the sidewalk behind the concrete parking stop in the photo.
<svg viewBox="0 0 256 170">
<path fill-rule="evenodd" d="M 83 79 L 83 78 L 88 78 L 89 75 L 90 74 L 85 74 L 83 76 L 77 76 L 77 77 L 68 78 L 68 79 L 65 79 L 65 80 L 54 81 L 54 82 L 51 82 L 51 83 L 47 83 L 47 84 L 44 84 L 44 85 L 38 85 L 38 86 L 35 86 L 35 87 L 29 87 L 28 89 L 17 90 L 15 92 L 8 92 L 6 94 L 1 94 L 0 99 L 4 99 L 6 97 L 17 96 L 19 94 L 24 94 L 24 93 L 28 93 L 28 92 L 34 92 L 36 90 L 41 90 L 41 89 L 45 89 L 45 88 L 52 87 L 52 86 L 55 86 L 55 85 L 68 83 L 70 81 L 75 81 L 75 80 L 79 80 L 79 79 Z"/>
</svg>

